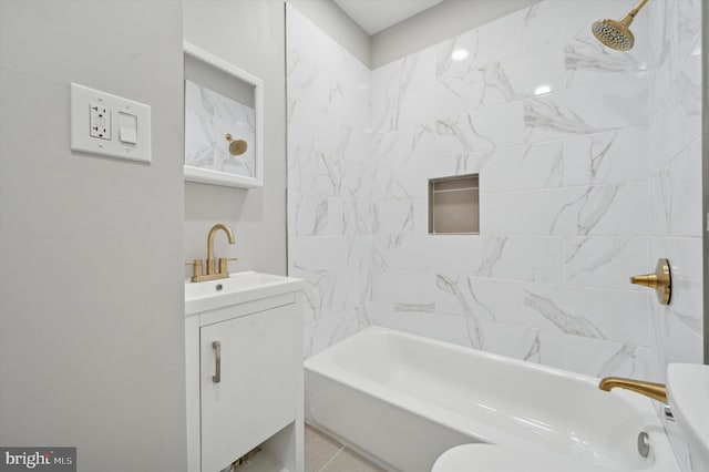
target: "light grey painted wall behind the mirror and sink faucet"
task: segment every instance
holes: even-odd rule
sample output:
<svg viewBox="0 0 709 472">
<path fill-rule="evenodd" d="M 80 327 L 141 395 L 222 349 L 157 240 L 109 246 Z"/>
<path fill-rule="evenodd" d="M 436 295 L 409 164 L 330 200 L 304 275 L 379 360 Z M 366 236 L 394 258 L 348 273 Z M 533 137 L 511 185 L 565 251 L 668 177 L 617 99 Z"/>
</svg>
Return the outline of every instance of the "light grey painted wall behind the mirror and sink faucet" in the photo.
<svg viewBox="0 0 709 472">
<path fill-rule="evenodd" d="M 217 257 L 238 257 L 230 271 L 286 274 L 286 71 L 282 1 L 189 0 L 184 6 L 184 38 L 264 80 L 264 187 L 254 189 L 185 184 L 185 260 L 204 259 L 207 233 L 216 223 L 223 234 Z M 189 275 L 189 268 L 184 276 Z"/>
</svg>

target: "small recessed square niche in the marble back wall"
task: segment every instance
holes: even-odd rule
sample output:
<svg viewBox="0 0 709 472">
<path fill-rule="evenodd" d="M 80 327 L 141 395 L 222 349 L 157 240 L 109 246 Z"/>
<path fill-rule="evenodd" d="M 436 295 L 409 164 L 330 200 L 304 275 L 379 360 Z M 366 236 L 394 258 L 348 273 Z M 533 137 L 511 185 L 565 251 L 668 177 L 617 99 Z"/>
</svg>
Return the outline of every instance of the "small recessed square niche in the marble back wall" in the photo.
<svg viewBox="0 0 709 472">
<path fill-rule="evenodd" d="M 429 233 L 480 234 L 477 174 L 429 179 Z"/>
</svg>

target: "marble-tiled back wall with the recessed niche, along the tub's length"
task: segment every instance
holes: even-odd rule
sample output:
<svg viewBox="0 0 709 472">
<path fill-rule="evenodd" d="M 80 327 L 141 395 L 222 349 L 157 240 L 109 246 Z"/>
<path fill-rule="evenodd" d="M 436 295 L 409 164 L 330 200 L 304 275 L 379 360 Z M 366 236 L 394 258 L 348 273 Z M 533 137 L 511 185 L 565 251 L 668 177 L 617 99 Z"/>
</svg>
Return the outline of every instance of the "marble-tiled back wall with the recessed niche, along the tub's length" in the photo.
<svg viewBox="0 0 709 472">
<path fill-rule="evenodd" d="M 659 377 L 650 299 L 628 284 L 653 266 L 647 16 L 630 52 L 590 34 L 630 8 L 542 1 L 372 72 L 374 322 Z M 428 235 L 428 178 L 465 173 L 481 235 Z"/>
</svg>

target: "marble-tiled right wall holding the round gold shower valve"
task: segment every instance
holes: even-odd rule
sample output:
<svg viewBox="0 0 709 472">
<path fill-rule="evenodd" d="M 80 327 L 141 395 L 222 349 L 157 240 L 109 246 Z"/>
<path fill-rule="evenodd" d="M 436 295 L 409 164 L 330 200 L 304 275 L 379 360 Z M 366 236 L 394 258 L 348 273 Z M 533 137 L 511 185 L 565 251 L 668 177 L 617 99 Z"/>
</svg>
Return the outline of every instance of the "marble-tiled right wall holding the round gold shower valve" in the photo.
<svg viewBox="0 0 709 472">
<path fill-rule="evenodd" d="M 650 256 L 675 269 L 672 302 L 651 305 L 659 362 L 701 363 L 700 1 L 648 7 Z"/>
</svg>

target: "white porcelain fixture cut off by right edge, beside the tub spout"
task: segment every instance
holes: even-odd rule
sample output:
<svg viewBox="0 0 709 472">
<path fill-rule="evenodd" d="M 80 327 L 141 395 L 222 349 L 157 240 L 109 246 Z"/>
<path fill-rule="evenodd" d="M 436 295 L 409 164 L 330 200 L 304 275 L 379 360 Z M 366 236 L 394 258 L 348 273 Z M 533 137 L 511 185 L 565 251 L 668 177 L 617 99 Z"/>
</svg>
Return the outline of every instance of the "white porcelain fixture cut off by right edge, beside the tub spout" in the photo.
<svg viewBox="0 0 709 472">
<path fill-rule="evenodd" d="M 687 438 L 692 470 L 709 471 L 709 366 L 670 363 L 667 394 Z"/>
</svg>

